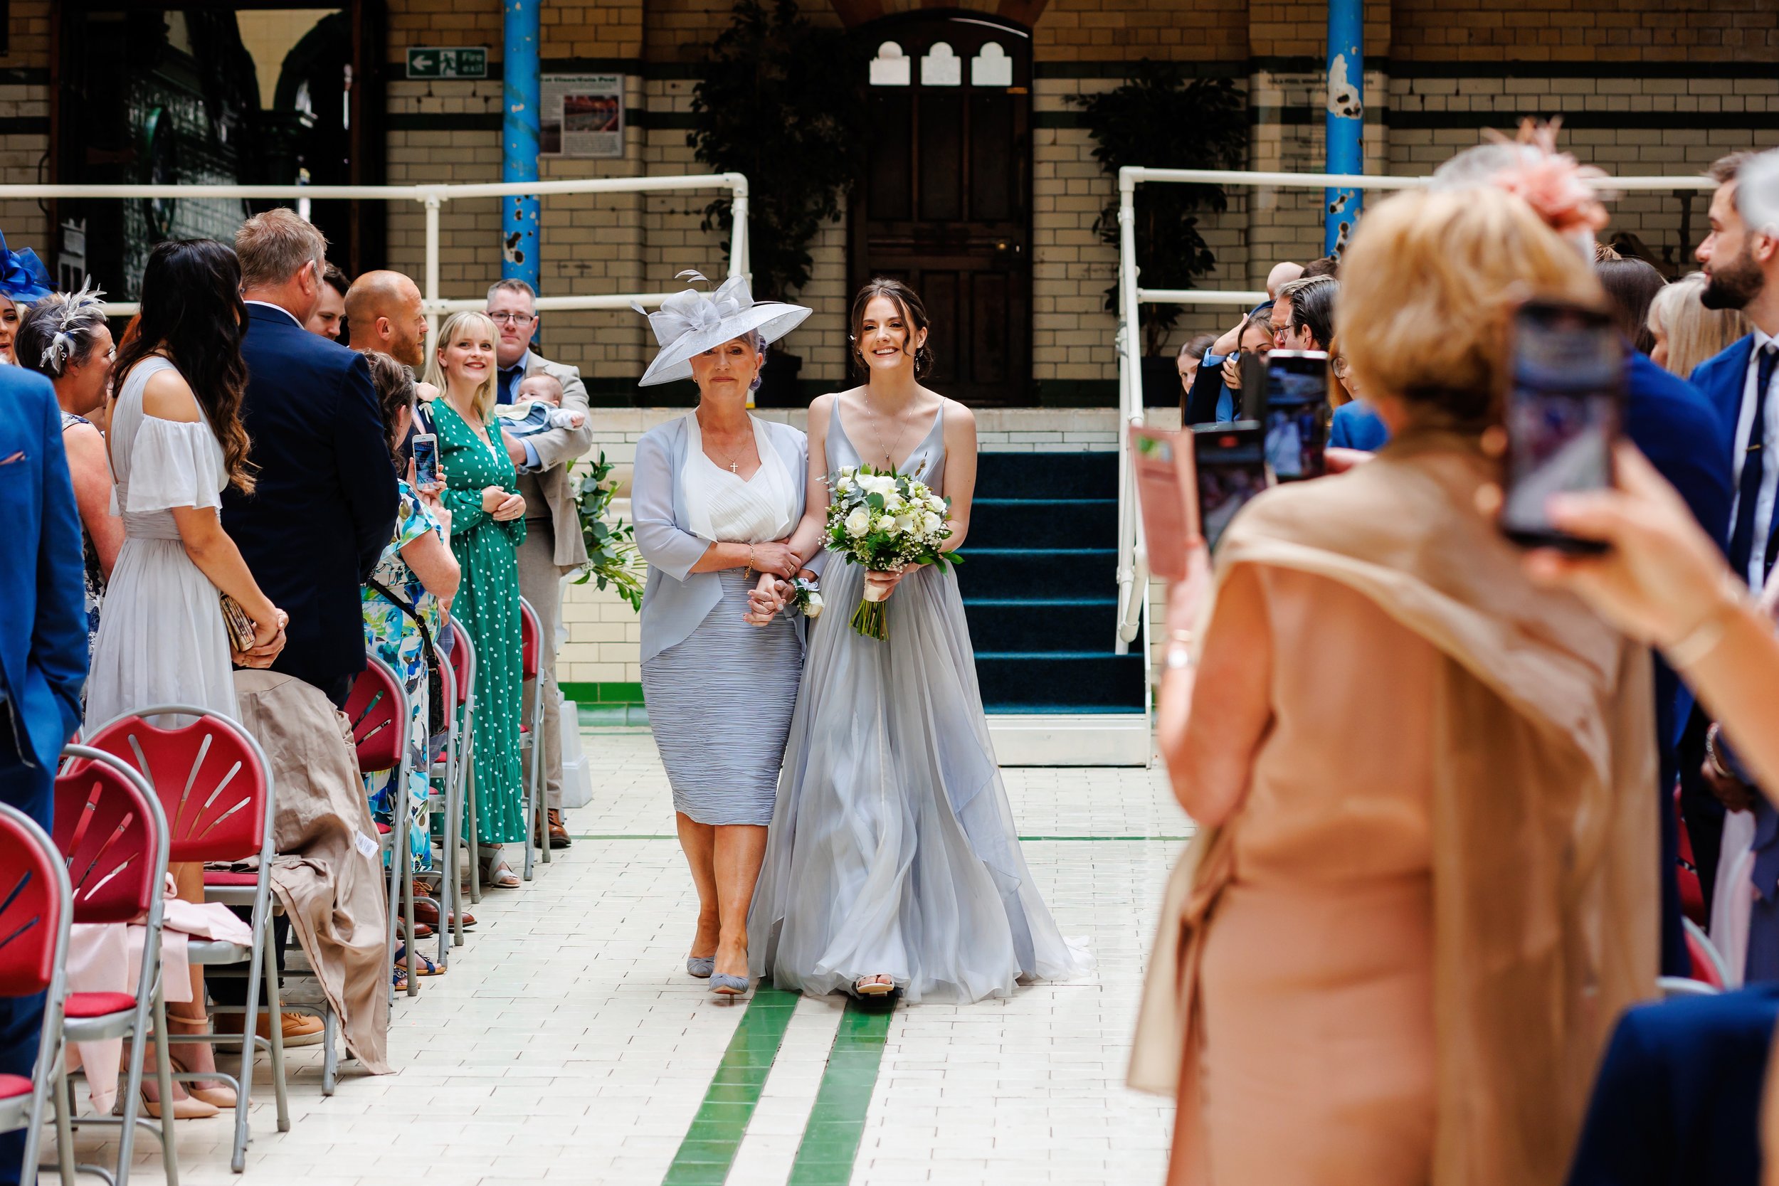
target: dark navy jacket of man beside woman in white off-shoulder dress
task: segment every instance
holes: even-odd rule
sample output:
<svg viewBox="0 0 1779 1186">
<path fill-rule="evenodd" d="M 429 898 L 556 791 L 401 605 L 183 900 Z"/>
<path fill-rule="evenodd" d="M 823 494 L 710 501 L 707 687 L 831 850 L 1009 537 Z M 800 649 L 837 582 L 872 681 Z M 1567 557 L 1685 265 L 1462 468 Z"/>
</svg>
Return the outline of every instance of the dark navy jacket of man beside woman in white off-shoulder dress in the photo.
<svg viewBox="0 0 1779 1186">
<path fill-rule="evenodd" d="M 395 535 L 395 462 L 365 356 L 247 306 L 253 494 L 222 494 L 222 528 L 290 615 L 272 670 L 320 688 L 365 670 L 359 587 Z"/>
</svg>

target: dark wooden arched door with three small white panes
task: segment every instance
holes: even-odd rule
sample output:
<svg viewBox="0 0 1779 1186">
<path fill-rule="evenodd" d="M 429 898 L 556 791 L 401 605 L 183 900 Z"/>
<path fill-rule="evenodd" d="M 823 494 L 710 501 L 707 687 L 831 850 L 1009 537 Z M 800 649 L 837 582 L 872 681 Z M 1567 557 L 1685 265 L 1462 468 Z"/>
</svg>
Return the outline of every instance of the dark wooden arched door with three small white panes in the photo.
<svg viewBox="0 0 1779 1186">
<path fill-rule="evenodd" d="M 977 14 L 859 30 L 870 137 L 850 219 L 852 288 L 906 281 L 932 317 L 925 382 L 1032 402 L 1032 41 Z"/>
</svg>

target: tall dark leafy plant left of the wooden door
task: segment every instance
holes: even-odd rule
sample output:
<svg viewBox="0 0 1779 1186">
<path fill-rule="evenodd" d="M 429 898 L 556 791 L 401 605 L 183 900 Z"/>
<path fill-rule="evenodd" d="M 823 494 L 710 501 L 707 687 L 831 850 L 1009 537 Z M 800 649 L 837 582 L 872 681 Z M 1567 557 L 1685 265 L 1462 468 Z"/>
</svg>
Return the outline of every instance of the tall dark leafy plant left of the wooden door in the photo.
<svg viewBox="0 0 1779 1186">
<path fill-rule="evenodd" d="M 717 172 L 747 176 L 747 270 L 756 301 L 788 301 L 809 283 L 809 242 L 838 222 L 857 176 L 865 126 L 863 50 L 813 23 L 797 0 L 737 0 L 692 89 L 687 142 Z M 704 229 L 733 226 L 729 197 L 704 206 Z M 767 352 L 756 395 L 790 407 L 802 359 Z"/>
</svg>

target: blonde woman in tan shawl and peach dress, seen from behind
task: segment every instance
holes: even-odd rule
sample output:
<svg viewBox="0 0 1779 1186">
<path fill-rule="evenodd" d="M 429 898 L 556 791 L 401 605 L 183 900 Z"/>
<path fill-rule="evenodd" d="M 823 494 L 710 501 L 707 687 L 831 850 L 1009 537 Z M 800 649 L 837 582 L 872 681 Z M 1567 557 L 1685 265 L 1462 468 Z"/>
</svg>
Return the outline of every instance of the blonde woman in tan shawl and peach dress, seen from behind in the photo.
<svg viewBox="0 0 1779 1186">
<path fill-rule="evenodd" d="M 1171 603 L 1162 749 L 1199 832 L 1131 1083 L 1178 1090 L 1171 1182 L 1555 1186 L 1654 990 L 1649 658 L 1526 580 L 1478 439 L 1512 302 L 1599 288 L 1494 190 L 1391 197 L 1341 272 L 1395 441 L 1251 503 L 1195 638 Z"/>
</svg>

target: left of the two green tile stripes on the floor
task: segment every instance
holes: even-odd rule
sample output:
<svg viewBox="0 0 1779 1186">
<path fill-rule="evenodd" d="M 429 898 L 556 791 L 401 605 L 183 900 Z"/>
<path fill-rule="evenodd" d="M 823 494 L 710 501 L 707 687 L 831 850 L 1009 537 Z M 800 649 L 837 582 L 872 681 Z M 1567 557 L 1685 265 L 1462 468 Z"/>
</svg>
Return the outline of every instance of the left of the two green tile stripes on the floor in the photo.
<svg viewBox="0 0 1779 1186">
<path fill-rule="evenodd" d="M 754 989 L 662 1186 L 722 1186 L 795 1010 L 795 992 Z"/>
</svg>

